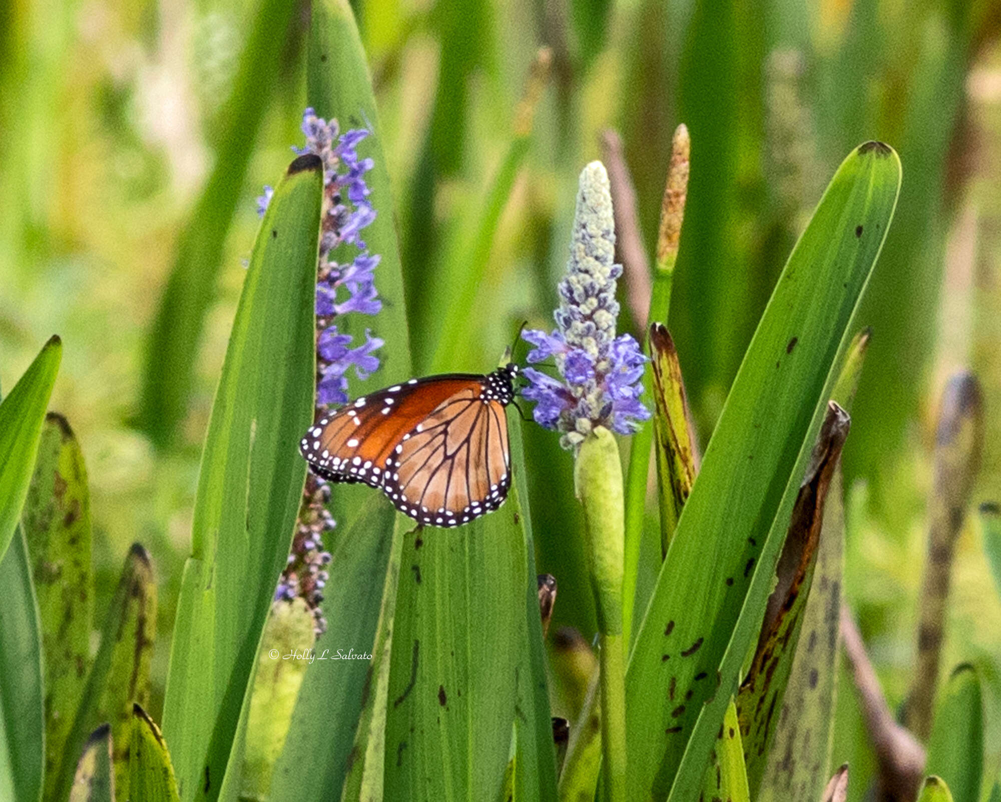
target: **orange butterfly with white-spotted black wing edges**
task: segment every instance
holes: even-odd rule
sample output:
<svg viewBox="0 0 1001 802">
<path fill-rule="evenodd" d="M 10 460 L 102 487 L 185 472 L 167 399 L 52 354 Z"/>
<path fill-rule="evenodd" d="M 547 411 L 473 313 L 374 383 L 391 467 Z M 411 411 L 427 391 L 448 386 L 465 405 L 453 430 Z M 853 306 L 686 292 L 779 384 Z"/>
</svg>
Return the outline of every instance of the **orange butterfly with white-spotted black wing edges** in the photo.
<svg viewBox="0 0 1001 802">
<path fill-rule="evenodd" d="M 430 526 L 461 526 L 511 489 L 507 406 L 518 365 L 410 379 L 359 398 L 309 428 L 299 450 L 317 476 L 379 488 Z"/>
</svg>

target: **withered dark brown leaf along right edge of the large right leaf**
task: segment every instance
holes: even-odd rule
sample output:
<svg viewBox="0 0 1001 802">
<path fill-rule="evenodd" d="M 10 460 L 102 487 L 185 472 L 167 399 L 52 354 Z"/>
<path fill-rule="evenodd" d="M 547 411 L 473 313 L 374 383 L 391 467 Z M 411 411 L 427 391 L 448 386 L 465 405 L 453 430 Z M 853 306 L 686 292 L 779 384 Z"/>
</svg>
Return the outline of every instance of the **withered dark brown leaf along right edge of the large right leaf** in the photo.
<svg viewBox="0 0 1001 802">
<path fill-rule="evenodd" d="M 831 402 L 793 507 L 792 521 L 776 568 L 775 590 L 768 599 L 754 660 L 737 697 L 748 782 L 756 798 L 770 761 L 773 736 L 785 710 L 786 685 L 817 567 L 825 503 L 848 427 L 848 413 Z M 828 588 L 821 590 L 823 593 Z M 813 634 L 816 638 L 816 632 Z M 816 681 L 819 681 L 819 674 Z M 812 755 L 801 754 L 800 757 L 809 763 Z M 822 774 L 827 774 L 826 766 Z"/>
</svg>

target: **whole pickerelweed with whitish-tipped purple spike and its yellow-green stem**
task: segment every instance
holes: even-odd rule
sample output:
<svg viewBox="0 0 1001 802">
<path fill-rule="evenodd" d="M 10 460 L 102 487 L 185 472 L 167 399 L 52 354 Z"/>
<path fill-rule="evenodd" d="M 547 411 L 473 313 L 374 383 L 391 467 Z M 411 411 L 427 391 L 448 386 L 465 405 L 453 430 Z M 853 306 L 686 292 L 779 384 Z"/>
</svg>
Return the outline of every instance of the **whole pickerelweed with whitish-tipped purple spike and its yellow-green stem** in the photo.
<svg viewBox="0 0 1001 802">
<path fill-rule="evenodd" d="M 626 652 L 623 642 L 625 504 L 619 447 L 612 432 L 630 434 L 650 411 L 640 401 L 647 358 L 629 334 L 616 336 L 619 303 L 615 220 L 609 176 L 601 162 L 581 173 L 570 259 L 560 282 L 557 330 L 526 331 L 529 362 L 555 357 L 563 382 L 527 368 L 533 415 L 563 434 L 573 449 L 577 497 L 584 506 L 587 554 L 598 609 L 601 653 L 604 789 L 626 799 Z"/>
</svg>

